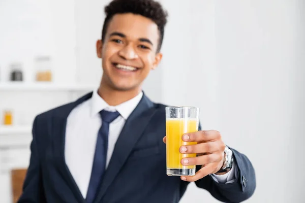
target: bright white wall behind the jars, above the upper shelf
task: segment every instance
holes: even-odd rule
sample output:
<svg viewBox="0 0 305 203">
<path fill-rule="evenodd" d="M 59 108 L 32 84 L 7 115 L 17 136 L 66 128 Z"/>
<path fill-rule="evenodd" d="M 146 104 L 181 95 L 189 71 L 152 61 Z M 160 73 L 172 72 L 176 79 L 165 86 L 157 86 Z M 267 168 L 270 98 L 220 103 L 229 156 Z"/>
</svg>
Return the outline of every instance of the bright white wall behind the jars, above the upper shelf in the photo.
<svg viewBox="0 0 305 203">
<path fill-rule="evenodd" d="M 74 1 L 0 1 L 0 81 L 12 62 L 22 63 L 25 82 L 35 79 L 34 59 L 48 55 L 53 79 L 75 82 Z"/>
</svg>

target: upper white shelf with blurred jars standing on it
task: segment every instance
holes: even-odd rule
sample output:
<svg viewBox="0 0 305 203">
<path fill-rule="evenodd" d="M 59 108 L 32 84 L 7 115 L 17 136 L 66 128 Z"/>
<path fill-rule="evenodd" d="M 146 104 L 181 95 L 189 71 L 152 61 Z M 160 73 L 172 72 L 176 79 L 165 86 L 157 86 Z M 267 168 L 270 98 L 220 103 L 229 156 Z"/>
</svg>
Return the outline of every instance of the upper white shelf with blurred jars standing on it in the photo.
<svg viewBox="0 0 305 203">
<path fill-rule="evenodd" d="M 54 84 L 52 82 L 9 82 L 0 83 L 0 91 L 92 91 L 93 85 Z"/>
</svg>

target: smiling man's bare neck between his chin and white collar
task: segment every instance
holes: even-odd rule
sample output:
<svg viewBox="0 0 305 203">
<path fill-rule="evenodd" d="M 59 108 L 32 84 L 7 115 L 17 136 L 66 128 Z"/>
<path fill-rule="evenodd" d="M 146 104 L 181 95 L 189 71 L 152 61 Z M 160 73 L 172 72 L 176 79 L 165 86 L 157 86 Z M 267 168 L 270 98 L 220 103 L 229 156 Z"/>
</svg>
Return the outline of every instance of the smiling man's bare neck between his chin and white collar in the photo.
<svg viewBox="0 0 305 203">
<path fill-rule="evenodd" d="M 117 106 L 119 104 L 128 101 L 137 96 L 141 91 L 141 88 L 136 88 L 128 91 L 119 91 L 106 86 L 100 86 L 98 94 L 106 101 L 110 106 Z"/>
</svg>

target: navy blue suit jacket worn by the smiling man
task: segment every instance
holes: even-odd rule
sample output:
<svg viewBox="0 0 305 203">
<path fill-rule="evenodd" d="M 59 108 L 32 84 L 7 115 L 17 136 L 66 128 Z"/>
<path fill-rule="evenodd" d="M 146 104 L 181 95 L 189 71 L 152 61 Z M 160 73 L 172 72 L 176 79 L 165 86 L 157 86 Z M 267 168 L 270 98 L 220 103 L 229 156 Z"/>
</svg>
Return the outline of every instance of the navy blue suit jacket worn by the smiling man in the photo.
<svg viewBox="0 0 305 203">
<path fill-rule="evenodd" d="M 65 131 L 70 112 L 91 96 L 88 93 L 35 118 L 31 160 L 19 203 L 85 203 L 65 163 Z M 119 135 L 95 203 L 178 202 L 189 182 L 166 175 L 164 135 L 165 106 L 144 94 Z M 238 167 L 234 183 L 217 183 L 210 176 L 195 182 L 223 202 L 245 200 L 256 186 L 251 162 L 232 150 Z"/>
</svg>

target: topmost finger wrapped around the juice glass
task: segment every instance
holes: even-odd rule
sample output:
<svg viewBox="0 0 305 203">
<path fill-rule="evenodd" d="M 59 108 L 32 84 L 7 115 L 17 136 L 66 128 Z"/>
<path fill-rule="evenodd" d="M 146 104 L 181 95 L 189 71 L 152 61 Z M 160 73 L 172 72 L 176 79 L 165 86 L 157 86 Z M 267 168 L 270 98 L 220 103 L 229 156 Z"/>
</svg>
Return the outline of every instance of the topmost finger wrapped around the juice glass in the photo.
<svg viewBox="0 0 305 203">
<path fill-rule="evenodd" d="M 197 132 L 184 134 L 184 136 L 182 136 L 182 140 L 185 142 L 206 142 L 217 140 L 220 137 L 220 132 L 217 130 L 200 130 Z"/>
</svg>

